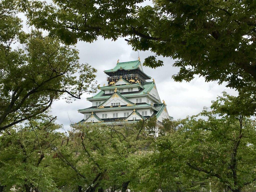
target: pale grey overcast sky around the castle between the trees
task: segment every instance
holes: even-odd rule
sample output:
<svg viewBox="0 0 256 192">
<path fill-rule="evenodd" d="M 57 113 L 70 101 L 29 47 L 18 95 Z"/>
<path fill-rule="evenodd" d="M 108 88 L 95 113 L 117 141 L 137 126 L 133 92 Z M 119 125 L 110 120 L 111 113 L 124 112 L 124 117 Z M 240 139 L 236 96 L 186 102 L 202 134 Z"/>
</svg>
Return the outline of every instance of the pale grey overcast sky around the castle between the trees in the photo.
<svg viewBox="0 0 256 192">
<path fill-rule="evenodd" d="M 27 31 L 25 25 L 25 17 L 20 15 L 24 21 L 24 30 Z M 137 60 L 138 52 L 132 50 L 127 45 L 124 38 L 117 41 L 104 40 L 99 38 L 93 43 L 78 42 L 80 63 L 89 63 L 98 70 L 96 80 L 102 86 L 107 84 L 106 74 L 103 70 L 112 69 L 116 65 L 116 61 L 120 62 Z M 154 55 L 151 51 L 139 52 L 141 62 L 148 56 Z M 155 79 L 156 87 L 161 100 L 165 100 L 168 113 L 175 120 L 185 118 L 199 113 L 204 106 L 209 107 L 211 101 L 215 100 L 222 91 L 227 91 L 231 95 L 237 95 L 233 89 L 226 88 L 226 83 L 218 85 L 217 82 L 205 82 L 202 77 L 195 77 L 191 82 L 174 82 L 171 78 L 173 74 L 179 71 L 179 68 L 173 67 L 174 60 L 170 58 L 158 57 L 164 61 L 164 66 L 156 69 L 143 66 L 146 74 Z M 94 94 L 93 94 L 94 95 Z M 52 105 L 52 114 L 57 116 L 57 123 L 63 124 L 65 129 L 69 129 L 70 122 L 78 122 L 83 119 L 83 114 L 78 113 L 78 109 L 90 107 L 92 103 L 87 101 L 87 97 L 93 95 L 83 94 L 80 100 L 66 103 L 60 99 Z"/>
</svg>

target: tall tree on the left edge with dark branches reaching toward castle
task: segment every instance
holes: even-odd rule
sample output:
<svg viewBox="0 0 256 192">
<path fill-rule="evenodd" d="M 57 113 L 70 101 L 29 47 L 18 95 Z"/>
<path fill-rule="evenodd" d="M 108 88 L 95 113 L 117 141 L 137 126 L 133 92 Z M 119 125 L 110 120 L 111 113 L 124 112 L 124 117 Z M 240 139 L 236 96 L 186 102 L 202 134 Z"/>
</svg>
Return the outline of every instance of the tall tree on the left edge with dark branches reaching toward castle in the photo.
<svg viewBox="0 0 256 192">
<path fill-rule="evenodd" d="M 0 2 L 0 131 L 46 111 L 54 100 L 94 92 L 96 69 L 78 51 L 35 30 L 21 30 L 17 2 Z M 20 44 L 22 48 L 14 48 Z"/>
</svg>

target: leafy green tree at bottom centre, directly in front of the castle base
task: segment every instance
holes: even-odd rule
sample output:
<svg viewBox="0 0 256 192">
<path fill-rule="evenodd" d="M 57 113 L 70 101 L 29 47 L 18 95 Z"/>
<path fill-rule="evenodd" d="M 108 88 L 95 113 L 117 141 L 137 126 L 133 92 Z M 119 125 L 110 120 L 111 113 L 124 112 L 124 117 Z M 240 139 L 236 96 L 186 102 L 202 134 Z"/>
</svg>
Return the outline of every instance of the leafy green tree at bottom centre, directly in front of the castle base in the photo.
<svg viewBox="0 0 256 192">
<path fill-rule="evenodd" d="M 68 172 L 65 180 L 57 182 L 63 186 L 61 190 L 125 192 L 131 189 L 142 166 L 140 160 L 154 140 L 145 125 L 146 122 L 142 126 L 141 123 L 77 125 L 68 144 L 54 148 L 59 159 L 57 166 Z"/>
</svg>

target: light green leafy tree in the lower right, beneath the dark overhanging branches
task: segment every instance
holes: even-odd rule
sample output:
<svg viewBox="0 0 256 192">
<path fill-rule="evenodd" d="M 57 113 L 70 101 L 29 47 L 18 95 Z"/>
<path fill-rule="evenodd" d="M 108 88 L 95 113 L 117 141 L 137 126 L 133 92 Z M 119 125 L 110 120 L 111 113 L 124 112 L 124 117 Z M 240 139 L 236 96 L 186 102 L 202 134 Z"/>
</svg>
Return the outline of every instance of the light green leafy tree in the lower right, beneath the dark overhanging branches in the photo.
<svg viewBox="0 0 256 192">
<path fill-rule="evenodd" d="M 204 178 L 200 182 L 211 182 L 219 190 L 240 192 L 254 186 L 256 137 L 255 121 L 246 109 L 250 105 L 255 105 L 255 101 L 250 103 L 224 92 L 223 97 L 212 102 L 211 110 L 205 108 L 182 120 L 174 134 L 156 142 L 156 155 L 166 159 L 159 163 L 164 166 L 161 172 L 168 174 L 165 167 L 180 165 L 182 174 L 198 173 Z"/>
</svg>

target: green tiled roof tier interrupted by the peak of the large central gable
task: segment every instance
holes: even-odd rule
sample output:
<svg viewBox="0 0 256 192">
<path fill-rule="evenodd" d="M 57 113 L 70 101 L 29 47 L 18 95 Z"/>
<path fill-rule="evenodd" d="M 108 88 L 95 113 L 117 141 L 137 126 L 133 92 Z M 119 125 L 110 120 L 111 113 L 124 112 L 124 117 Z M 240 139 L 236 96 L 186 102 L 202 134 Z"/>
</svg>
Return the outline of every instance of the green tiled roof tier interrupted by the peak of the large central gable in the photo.
<svg viewBox="0 0 256 192">
<path fill-rule="evenodd" d="M 144 88 L 142 91 L 138 91 L 135 93 L 126 93 L 126 94 L 122 94 L 123 97 L 136 97 L 136 96 L 144 96 L 147 95 L 147 92 L 150 92 L 151 89 L 153 89 L 155 83 L 152 82 L 145 82 L 142 83 L 141 86 Z M 97 93 L 96 95 L 94 95 L 93 97 L 89 97 L 87 98 L 89 101 L 90 100 L 104 100 L 104 99 L 108 99 L 111 95 L 106 95 L 104 91 L 100 91 L 99 93 Z"/>
</svg>

